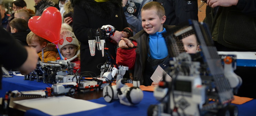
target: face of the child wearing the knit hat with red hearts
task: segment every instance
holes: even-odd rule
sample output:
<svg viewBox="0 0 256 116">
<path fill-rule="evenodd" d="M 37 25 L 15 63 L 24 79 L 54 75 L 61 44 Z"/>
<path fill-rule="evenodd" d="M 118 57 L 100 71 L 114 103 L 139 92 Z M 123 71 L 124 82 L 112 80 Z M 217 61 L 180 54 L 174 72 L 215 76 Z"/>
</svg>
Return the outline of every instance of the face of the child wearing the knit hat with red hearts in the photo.
<svg viewBox="0 0 256 116">
<path fill-rule="evenodd" d="M 63 46 L 61 48 L 61 54 L 67 59 L 74 57 L 76 54 L 76 46 L 71 44 Z"/>
</svg>

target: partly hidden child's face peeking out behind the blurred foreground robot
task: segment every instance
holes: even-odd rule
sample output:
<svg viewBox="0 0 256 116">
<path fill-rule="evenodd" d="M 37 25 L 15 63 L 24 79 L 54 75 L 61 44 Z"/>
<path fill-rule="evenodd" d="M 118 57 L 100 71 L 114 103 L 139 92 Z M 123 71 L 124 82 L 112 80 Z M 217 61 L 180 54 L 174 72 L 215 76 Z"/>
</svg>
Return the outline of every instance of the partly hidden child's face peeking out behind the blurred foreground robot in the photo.
<svg viewBox="0 0 256 116">
<path fill-rule="evenodd" d="M 184 48 L 186 50 L 186 53 L 195 54 L 196 51 L 199 49 L 199 45 L 197 45 L 197 43 L 196 43 L 195 34 L 192 34 L 186 38 L 183 38 L 182 42 L 183 42 Z"/>
</svg>

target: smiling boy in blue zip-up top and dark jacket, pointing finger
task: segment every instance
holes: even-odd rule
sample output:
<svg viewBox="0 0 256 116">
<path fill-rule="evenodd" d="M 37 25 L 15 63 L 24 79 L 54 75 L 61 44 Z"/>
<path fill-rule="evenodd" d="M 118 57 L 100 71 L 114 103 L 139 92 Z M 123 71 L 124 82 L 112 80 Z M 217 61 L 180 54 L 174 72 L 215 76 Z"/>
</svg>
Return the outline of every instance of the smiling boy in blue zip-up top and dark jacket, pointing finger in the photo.
<svg viewBox="0 0 256 116">
<path fill-rule="evenodd" d="M 162 34 L 175 26 L 163 25 L 165 11 L 159 2 L 148 2 L 141 9 L 143 30 L 134 37 L 121 38 L 117 49 L 117 64 L 134 69 L 134 78 L 145 86 L 152 84 L 150 77 L 158 65 L 168 63 L 168 49 Z M 138 46 L 138 48 L 132 48 Z"/>
</svg>

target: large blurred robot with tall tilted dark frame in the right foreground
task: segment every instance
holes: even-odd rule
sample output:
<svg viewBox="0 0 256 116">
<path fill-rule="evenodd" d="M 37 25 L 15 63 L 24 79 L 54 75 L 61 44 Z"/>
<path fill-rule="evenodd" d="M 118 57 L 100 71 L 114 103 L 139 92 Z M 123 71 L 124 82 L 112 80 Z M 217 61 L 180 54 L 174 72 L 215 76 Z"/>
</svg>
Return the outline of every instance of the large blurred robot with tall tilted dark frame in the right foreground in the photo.
<svg viewBox="0 0 256 116">
<path fill-rule="evenodd" d="M 197 54 L 185 53 L 181 41 L 191 34 L 195 34 L 200 43 L 201 51 Z M 151 105 L 148 115 L 237 116 L 237 107 L 230 103 L 234 99 L 234 89 L 242 81 L 230 65 L 225 64 L 223 69 L 210 35 L 205 24 L 194 20 L 165 35 L 169 54 L 173 57 L 169 68 L 172 81 L 163 78 L 155 88 L 154 96 L 160 104 Z M 230 58 L 226 60 L 231 62 Z"/>
</svg>

